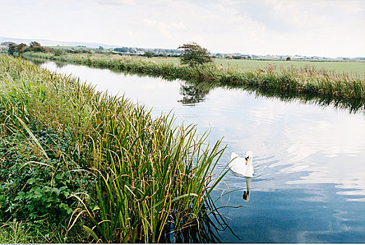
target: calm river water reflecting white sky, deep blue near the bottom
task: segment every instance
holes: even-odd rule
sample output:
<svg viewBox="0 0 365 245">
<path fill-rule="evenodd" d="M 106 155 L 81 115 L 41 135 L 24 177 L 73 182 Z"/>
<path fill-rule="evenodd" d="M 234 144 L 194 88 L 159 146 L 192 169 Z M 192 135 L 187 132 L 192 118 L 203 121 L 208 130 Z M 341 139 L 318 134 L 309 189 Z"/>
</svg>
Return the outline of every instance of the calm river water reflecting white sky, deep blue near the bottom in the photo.
<svg viewBox="0 0 365 245">
<path fill-rule="evenodd" d="M 217 206 L 228 229 L 221 242 L 365 243 L 365 113 L 311 102 L 256 96 L 240 89 L 199 89 L 184 81 L 126 75 L 71 64 L 41 66 L 72 73 L 97 90 L 129 97 L 153 108 L 172 110 L 176 123 L 210 130 L 209 141 L 223 137 L 232 151 L 253 151 L 256 177 L 247 181 L 228 172 L 230 195 Z M 219 188 L 226 189 L 223 184 Z M 238 189 L 238 190 L 237 190 Z M 227 191 L 225 191 L 226 193 Z M 214 191 L 216 199 L 221 191 Z"/>
</svg>

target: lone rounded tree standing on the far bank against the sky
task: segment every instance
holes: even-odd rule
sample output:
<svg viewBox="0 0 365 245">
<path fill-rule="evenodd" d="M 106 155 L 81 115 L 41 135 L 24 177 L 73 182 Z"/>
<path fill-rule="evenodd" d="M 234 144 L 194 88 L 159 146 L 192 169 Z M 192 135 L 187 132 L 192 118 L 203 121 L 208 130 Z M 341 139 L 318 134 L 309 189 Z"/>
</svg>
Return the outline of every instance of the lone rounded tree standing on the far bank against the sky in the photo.
<svg viewBox="0 0 365 245">
<path fill-rule="evenodd" d="M 209 55 L 208 50 L 202 48 L 198 43 L 185 43 L 178 49 L 184 50 L 180 55 L 181 64 L 193 66 L 212 62 L 212 57 Z"/>
</svg>

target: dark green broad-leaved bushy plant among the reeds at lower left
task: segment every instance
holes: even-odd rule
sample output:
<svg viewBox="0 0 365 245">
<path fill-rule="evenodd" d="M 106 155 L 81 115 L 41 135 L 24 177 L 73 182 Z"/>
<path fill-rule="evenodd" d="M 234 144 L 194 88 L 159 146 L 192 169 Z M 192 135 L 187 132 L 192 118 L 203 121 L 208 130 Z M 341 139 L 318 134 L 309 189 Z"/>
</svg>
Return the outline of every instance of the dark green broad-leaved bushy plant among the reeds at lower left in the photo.
<svg viewBox="0 0 365 245">
<path fill-rule="evenodd" d="M 10 217 L 28 220 L 42 217 L 51 222 L 67 219 L 76 205 L 69 195 L 83 191 L 81 181 L 83 185 L 90 182 L 90 179 L 81 180 L 68 171 L 77 166 L 67 160 L 62 151 L 67 148 L 67 137 L 60 138 L 52 130 L 32 131 L 39 146 L 43 146 L 43 152 L 47 151 L 46 157 L 21 131 L 0 140 L 0 158 L 3 159 L 0 217 L 3 222 Z"/>
</svg>

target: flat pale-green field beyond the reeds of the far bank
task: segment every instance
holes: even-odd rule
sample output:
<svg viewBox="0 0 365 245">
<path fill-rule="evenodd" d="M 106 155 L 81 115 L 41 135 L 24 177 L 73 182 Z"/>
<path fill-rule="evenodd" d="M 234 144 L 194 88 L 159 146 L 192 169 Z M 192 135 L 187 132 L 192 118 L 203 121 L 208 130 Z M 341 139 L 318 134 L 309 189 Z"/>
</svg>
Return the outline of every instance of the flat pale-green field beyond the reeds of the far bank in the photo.
<svg viewBox="0 0 365 245">
<path fill-rule="evenodd" d="M 150 58 L 155 62 L 172 62 L 179 64 L 178 58 Z M 244 70 L 250 69 L 263 69 L 268 64 L 275 64 L 276 66 L 293 66 L 300 68 L 304 66 L 314 67 L 315 69 L 331 70 L 336 73 L 357 73 L 361 76 L 365 76 L 365 62 L 310 62 L 310 61 L 277 61 L 277 60 L 249 60 L 249 59 L 214 59 L 215 64 L 221 64 L 222 66 L 232 66 Z"/>
</svg>

